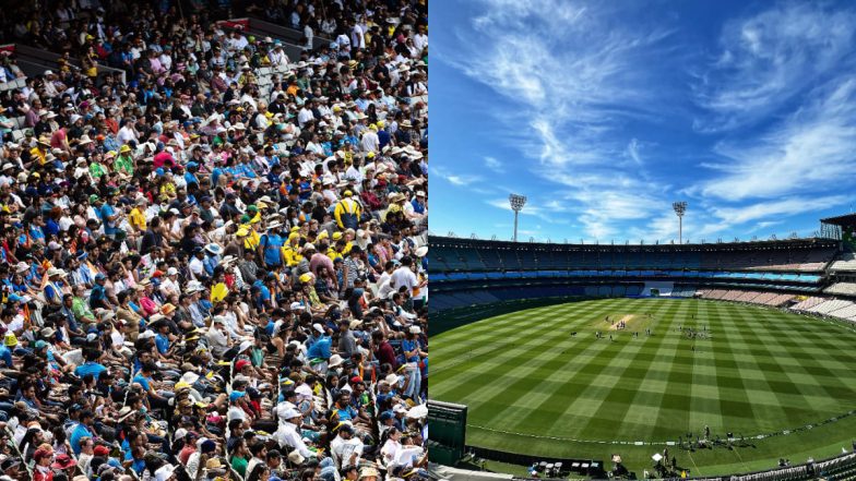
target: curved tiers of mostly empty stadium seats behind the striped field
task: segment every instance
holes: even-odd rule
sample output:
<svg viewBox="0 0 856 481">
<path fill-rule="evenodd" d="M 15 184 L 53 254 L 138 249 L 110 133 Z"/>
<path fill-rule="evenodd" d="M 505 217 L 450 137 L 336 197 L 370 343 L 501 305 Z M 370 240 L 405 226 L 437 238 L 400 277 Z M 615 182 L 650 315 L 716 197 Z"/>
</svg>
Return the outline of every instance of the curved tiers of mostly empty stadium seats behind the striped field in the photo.
<svg viewBox="0 0 856 481">
<path fill-rule="evenodd" d="M 833 240 L 703 245 L 582 245 L 432 237 L 432 312 L 539 297 L 661 296 L 745 302 L 856 321 L 856 255 Z M 681 281 L 678 284 L 678 281 Z M 689 281 L 689 282 L 687 282 Z M 823 292 L 828 297 L 818 296 Z M 856 299 L 854 299 L 856 301 Z M 793 305 L 792 305 L 793 304 Z"/>
</svg>

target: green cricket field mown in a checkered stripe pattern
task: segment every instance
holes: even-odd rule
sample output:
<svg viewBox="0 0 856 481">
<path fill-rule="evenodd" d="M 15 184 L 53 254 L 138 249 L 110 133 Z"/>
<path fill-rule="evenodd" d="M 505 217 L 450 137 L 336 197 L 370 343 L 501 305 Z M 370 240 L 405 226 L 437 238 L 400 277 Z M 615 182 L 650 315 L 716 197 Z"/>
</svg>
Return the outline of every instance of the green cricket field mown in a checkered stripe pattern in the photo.
<svg viewBox="0 0 856 481">
<path fill-rule="evenodd" d="M 712 476 L 834 456 L 856 433 L 856 416 L 822 423 L 856 409 L 856 330 L 778 310 L 588 300 L 483 320 L 431 347 L 430 396 L 468 406 L 469 445 L 545 458 L 620 454 L 641 474 L 666 443 L 703 437 L 705 425 L 711 438 L 751 436 L 734 449 L 668 446 L 691 476 Z"/>
</svg>

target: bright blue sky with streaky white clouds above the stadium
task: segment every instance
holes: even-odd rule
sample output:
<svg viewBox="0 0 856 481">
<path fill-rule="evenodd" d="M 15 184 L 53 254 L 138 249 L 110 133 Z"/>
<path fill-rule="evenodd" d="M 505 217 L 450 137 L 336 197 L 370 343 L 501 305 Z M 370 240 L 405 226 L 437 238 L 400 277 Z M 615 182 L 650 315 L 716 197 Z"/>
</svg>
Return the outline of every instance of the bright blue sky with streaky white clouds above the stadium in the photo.
<svg viewBox="0 0 856 481">
<path fill-rule="evenodd" d="M 856 3 L 431 4 L 431 231 L 810 236 L 856 202 Z"/>
</svg>

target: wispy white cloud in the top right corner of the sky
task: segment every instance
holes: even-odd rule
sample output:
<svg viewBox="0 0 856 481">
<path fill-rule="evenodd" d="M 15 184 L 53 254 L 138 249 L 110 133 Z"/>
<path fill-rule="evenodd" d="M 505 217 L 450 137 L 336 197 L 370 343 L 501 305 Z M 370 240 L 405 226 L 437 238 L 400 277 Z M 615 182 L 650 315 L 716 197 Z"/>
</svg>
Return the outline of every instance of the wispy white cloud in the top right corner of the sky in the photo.
<svg viewBox="0 0 856 481">
<path fill-rule="evenodd" d="M 697 101 L 713 117 L 701 131 L 729 130 L 768 118 L 830 71 L 853 48 L 856 14 L 821 2 L 788 2 L 727 22 L 721 51 L 697 73 Z M 852 63 L 852 62 L 851 62 Z"/>
</svg>

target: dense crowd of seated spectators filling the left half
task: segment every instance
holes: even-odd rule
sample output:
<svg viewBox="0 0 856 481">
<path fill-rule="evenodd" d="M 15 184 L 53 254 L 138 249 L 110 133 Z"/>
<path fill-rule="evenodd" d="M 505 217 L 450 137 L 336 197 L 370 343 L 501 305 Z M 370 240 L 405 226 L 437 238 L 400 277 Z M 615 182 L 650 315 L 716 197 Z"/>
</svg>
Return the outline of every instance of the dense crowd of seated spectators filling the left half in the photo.
<svg viewBox="0 0 856 481">
<path fill-rule="evenodd" d="M 424 476 L 427 4 L 216 3 L 0 14 L 0 479 Z"/>
</svg>

